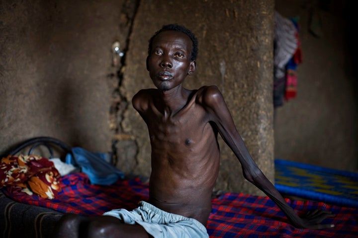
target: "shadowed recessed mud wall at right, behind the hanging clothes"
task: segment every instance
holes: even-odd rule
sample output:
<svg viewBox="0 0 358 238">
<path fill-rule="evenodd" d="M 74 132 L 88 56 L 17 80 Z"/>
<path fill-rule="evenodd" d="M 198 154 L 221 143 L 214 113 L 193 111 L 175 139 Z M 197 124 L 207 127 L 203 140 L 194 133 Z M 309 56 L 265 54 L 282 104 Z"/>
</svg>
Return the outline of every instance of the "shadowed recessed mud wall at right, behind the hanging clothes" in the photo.
<svg viewBox="0 0 358 238">
<path fill-rule="evenodd" d="M 353 1 L 276 0 L 298 17 L 297 96 L 275 110 L 275 157 L 358 171 L 357 44 Z"/>
</svg>

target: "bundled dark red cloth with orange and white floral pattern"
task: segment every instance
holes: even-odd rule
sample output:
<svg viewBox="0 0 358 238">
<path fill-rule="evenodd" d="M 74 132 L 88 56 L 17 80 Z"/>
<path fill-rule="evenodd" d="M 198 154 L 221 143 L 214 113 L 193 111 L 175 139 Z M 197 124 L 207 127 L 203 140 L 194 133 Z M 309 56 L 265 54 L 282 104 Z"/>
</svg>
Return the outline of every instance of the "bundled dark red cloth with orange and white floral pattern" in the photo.
<svg viewBox="0 0 358 238">
<path fill-rule="evenodd" d="M 56 198 L 61 191 L 60 177 L 52 161 L 37 155 L 9 155 L 0 162 L 0 187 L 18 186 L 30 195 Z"/>
</svg>

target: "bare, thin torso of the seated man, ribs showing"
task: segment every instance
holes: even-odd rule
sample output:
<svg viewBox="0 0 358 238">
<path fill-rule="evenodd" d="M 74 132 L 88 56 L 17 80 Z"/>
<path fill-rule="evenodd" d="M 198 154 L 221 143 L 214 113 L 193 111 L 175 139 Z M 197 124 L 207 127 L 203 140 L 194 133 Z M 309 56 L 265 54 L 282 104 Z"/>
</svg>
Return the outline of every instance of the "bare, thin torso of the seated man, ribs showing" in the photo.
<svg viewBox="0 0 358 238">
<path fill-rule="evenodd" d="M 149 202 L 206 224 L 219 168 L 217 132 L 200 103 L 203 88 L 176 114 L 165 117 L 149 102 L 144 120 L 152 146 Z"/>
</svg>

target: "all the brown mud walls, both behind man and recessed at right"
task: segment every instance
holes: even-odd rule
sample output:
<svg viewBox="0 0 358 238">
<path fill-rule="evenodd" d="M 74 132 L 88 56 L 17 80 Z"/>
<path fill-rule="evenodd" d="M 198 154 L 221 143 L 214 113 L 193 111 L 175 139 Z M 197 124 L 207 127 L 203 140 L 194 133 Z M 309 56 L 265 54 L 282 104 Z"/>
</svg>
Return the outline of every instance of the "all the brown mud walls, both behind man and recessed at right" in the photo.
<svg viewBox="0 0 358 238">
<path fill-rule="evenodd" d="M 53 136 L 91 151 L 111 151 L 113 144 L 118 168 L 148 175 L 147 128 L 130 100 L 140 88 L 152 87 L 145 69 L 149 37 L 163 24 L 177 22 L 199 39 L 197 71 L 185 86 L 219 86 L 245 143 L 271 180 L 273 146 L 276 157 L 356 170 L 352 69 L 358 65 L 352 55 L 357 47 L 347 44 L 355 39 L 347 34 L 352 14 L 342 8 L 350 1 L 327 1 L 321 38 L 308 31 L 310 2 L 2 0 L 0 153 L 33 136 Z M 274 7 L 300 17 L 304 57 L 297 98 L 276 110 L 275 145 Z M 125 52 L 117 65 L 111 52 L 115 40 Z M 220 146 L 216 188 L 257 193 L 222 140 Z"/>
</svg>

